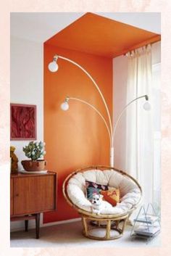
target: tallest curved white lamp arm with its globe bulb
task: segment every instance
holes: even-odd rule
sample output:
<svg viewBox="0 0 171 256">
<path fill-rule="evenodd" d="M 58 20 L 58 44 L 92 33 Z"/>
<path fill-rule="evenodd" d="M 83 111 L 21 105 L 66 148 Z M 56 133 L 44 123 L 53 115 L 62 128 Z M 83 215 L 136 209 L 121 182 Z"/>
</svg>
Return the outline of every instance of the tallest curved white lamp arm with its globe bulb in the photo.
<svg viewBox="0 0 171 256">
<path fill-rule="evenodd" d="M 104 99 L 104 96 L 103 96 L 103 94 L 101 93 L 101 90 L 100 90 L 99 86 L 97 85 L 96 81 L 95 81 L 95 80 L 92 78 L 92 76 L 91 76 L 83 67 L 81 67 L 77 62 L 74 62 L 72 59 L 68 59 L 68 58 L 66 58 L 66 57 L 59 56 L 59 55 L 57 55 L 57 54 L 54 56 L 53 62 L 51 62 L 51 63 L 49 64 L 49 70 L 51 70 L 50 65 L 53 66 L 51 72 L 57 71 L 57 69 L 58 69 L 58 66 L 57 66 L 57 59 L 58 59 L 58 58 L 67 60 L 68 62 L 71 62 L 73 65 L 79 67 L 81 70 L 83 70 L 84 73 L 86 73 L 86 75 L 88 75 L 88 78 L 91 79 L 91 81 L 93 82 L 94 86 L 96 86 L 96 89 L 99 91 L 99 94 L 100 94 L 100 96 L 101 96 L 101 99 L 102 99 L 102 101 L 104 102 L 104 106 L 105 106 L 105 108 L 106 108 L 106 110 L 107 110 L 107 116 L 108 116 L 108 118 L 109 118 L 110 134 L 111 134 L 112 141 L 113 141 L 112 120 L 111 120 L 111 117 L 110 117 L 110 114 L 109 114 L 109 108 L 107 107 L 107 102 L 106 102 L 106 100 Z M 56 65 L 56 68 L 55 68 L 55 65 Z M 54 68 L 54 70 L 53 70 L 53 68 Z"/>
</svg>

